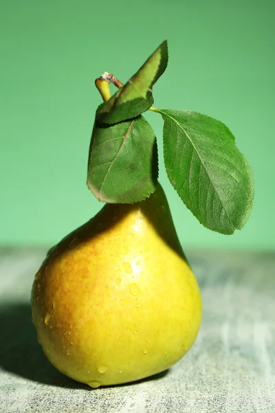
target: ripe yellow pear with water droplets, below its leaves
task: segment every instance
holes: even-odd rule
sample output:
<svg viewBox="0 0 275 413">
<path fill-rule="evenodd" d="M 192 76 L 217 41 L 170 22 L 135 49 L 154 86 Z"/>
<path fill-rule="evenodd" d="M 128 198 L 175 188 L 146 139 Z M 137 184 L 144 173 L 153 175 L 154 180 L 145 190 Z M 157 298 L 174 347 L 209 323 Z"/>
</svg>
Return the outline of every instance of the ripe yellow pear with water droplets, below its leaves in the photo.
<svg viewBox="0 0 275 413">
<path fill-rule="evenodd" d="M 201 322 L 197 279 L 160 184 L 135 204 L 105 204 L 50 250 L 32 318 L 52 364 L 91 388 L 176 363 Z"/>
</svg>

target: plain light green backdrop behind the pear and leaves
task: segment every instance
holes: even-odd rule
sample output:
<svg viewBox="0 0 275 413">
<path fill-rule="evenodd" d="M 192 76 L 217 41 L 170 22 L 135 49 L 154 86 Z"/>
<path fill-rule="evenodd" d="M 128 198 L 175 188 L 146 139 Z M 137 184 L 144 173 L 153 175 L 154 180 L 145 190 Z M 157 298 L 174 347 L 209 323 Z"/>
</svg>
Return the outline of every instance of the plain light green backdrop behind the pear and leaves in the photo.
<svg viewBox="0 0 275 413">
<path fill-rule="evenodd" d="M 182 244 L 274 249 L 274 1 L 1 0 L 0 244 L 54 244 L 102 206 L 86 187 L 105 70 L 125 82 L 168 39 L 155 106 L 192 109 L 230 127 L 254 170 L 254 209 L 232 236 L 197 222 L 160 181 Z"/>
</svg>

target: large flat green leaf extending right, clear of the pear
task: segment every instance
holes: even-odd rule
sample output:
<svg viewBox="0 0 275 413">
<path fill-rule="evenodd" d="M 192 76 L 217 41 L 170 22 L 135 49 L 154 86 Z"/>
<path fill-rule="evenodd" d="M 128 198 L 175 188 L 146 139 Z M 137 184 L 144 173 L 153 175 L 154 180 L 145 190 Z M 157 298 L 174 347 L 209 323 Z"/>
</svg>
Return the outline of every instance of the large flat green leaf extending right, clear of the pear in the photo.
<svg viewBox="0 0 275 413">
<path fill-rule="evenodd" d="M 252 209 L 252 171 L 223 123 L 191 111 L 155 109 L 164 119 L 164 161 L 170 182 L 199 222 L 232 234 Z"/>
</svg>

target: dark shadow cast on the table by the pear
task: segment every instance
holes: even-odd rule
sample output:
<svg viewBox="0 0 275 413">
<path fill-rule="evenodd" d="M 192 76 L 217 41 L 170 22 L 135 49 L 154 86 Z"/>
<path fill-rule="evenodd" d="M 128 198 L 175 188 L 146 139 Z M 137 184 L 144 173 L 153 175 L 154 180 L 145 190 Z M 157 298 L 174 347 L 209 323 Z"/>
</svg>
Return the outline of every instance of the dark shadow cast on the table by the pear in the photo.
<svg viewBox="0 0 275 413">
<path fill-rule="evenodd" d="M 36 383 L 53 385 L 74 390 L 91 390 L 88 385 L 78 383 L 59 372 L 43 353 L 36 339 L 36 331 L 32 324 L 31 309 L 28 304 L 10 304 L 0 307 L 0 331 L 2 335 L 0 347 L 0 366 L 19 377 L 36 381 Z M 115 388 L 135 385 L 151 380 L 159 380 L 166 376 L 168 370 L 154 374 L 145 379 L 102 386 Z M 97 390 L 97 389 L 93 389 Z"/>
</svg>

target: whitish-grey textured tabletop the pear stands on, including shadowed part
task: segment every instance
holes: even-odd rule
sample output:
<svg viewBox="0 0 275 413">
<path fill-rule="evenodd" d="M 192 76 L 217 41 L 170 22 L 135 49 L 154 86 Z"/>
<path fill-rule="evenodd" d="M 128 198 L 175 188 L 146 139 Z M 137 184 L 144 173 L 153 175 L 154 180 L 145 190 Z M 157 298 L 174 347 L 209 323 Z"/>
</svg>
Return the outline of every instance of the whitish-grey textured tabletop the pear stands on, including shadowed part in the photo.
<svg viewBox="0 0 275 413">
<path fill-rule="evenodd" d="M 195 345 L 156 377 L 89 390 L 36 342 L 30 289 L 45 250 L 0 249 L 0 412 L 275 412 L 275 254 L 187 255 L 203 296 Z"/>
</svg>

